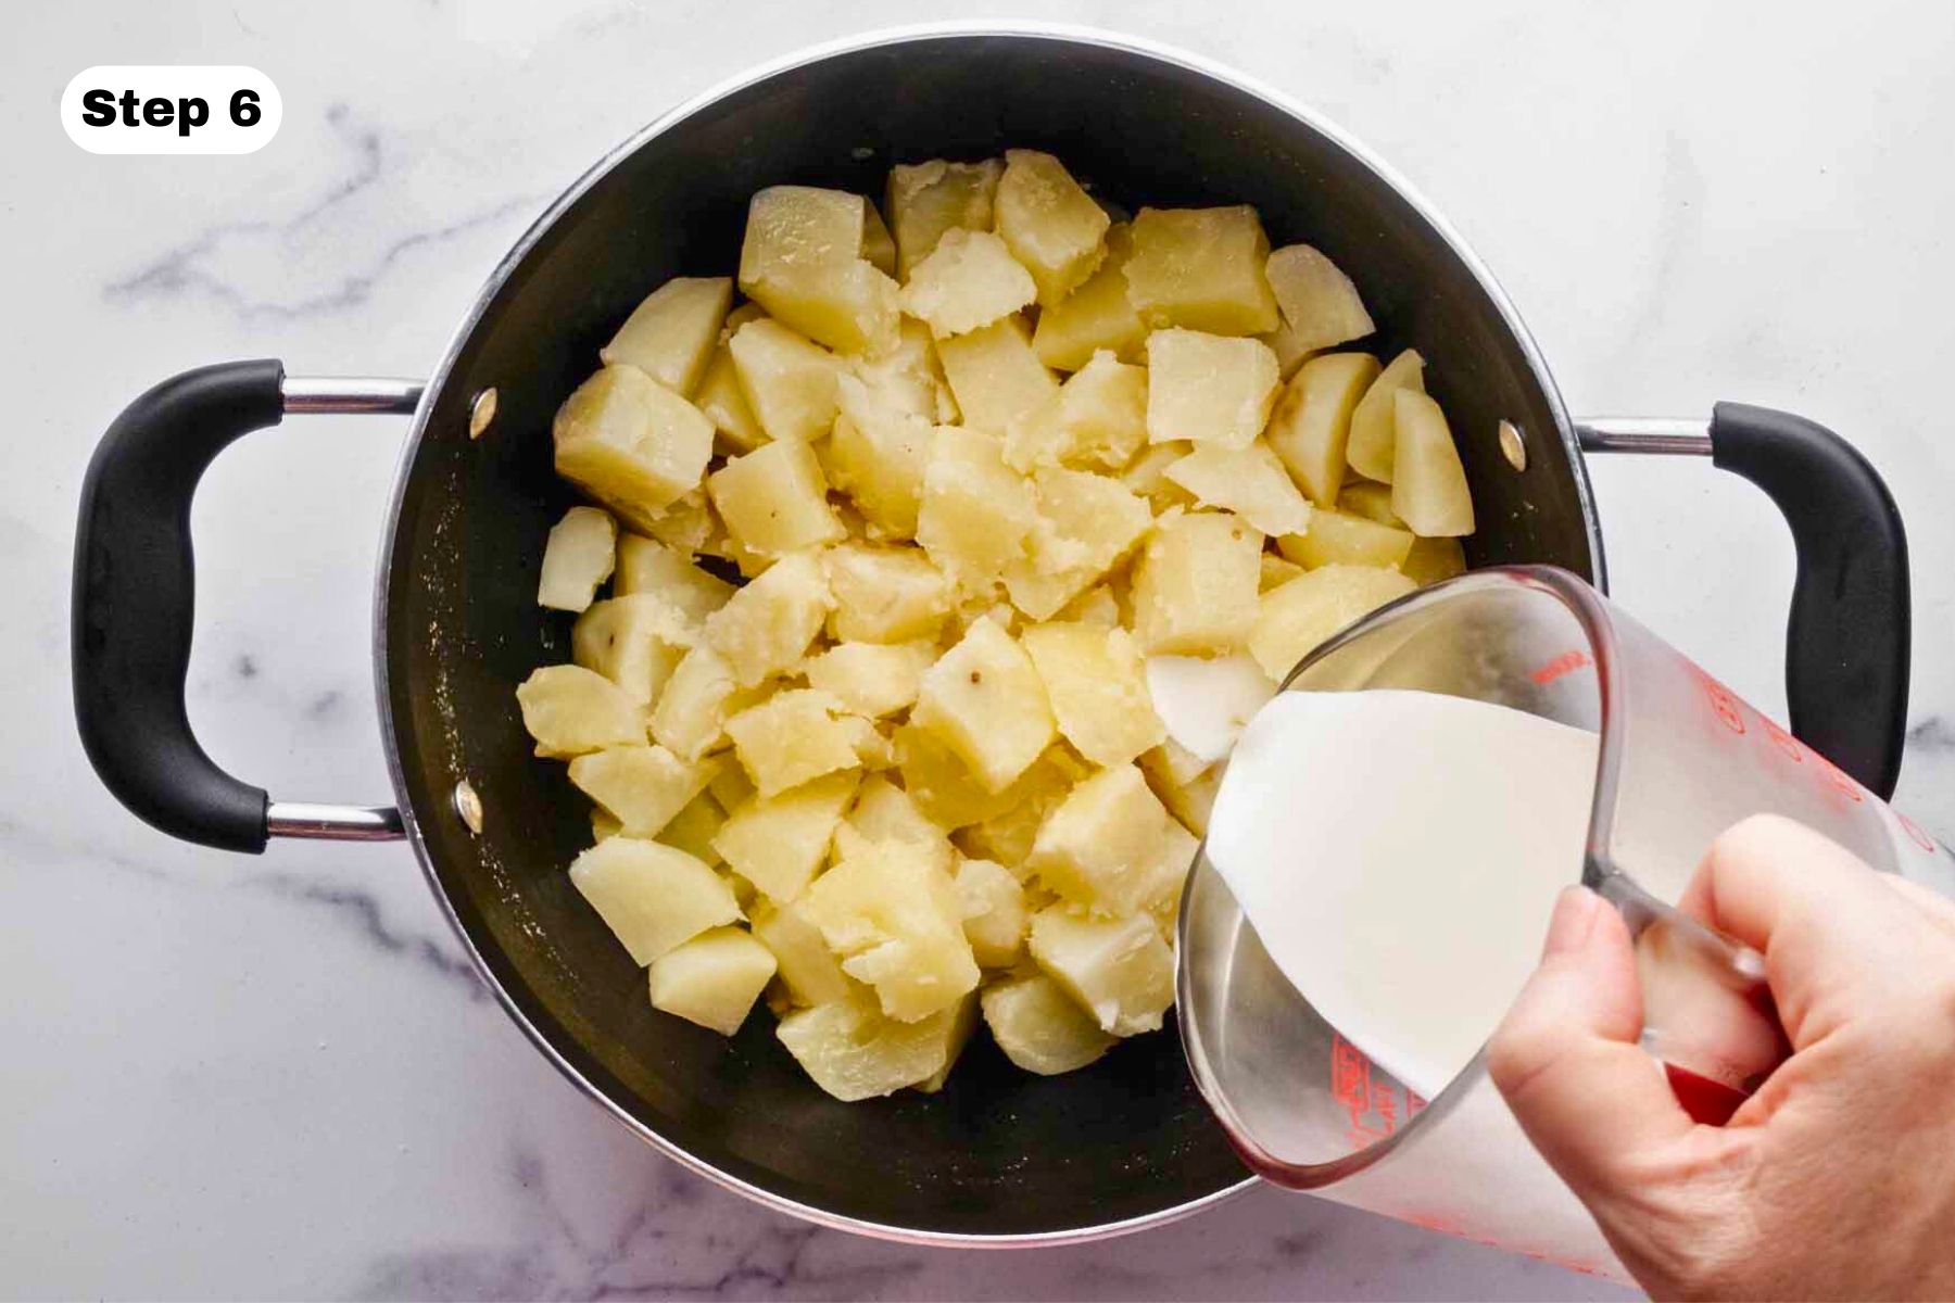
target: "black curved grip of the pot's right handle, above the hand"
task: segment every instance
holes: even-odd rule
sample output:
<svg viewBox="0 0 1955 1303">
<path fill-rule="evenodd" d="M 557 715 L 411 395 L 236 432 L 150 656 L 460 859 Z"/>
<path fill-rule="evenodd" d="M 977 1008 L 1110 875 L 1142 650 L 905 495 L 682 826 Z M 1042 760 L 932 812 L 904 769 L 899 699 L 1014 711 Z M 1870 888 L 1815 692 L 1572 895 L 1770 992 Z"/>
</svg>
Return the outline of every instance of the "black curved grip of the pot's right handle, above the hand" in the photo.
<svg viewBox="0 0 1955 1303">
<path fill-rule="evenodd" d="M 1879 473 L 1832 430 L 1718 402 L 1713 465 L 1752 481 L 1793 529 L 1785 635 L 1793 733 L 1887 799 L 1908 729 L 1908 537 Z"/>
</svg>

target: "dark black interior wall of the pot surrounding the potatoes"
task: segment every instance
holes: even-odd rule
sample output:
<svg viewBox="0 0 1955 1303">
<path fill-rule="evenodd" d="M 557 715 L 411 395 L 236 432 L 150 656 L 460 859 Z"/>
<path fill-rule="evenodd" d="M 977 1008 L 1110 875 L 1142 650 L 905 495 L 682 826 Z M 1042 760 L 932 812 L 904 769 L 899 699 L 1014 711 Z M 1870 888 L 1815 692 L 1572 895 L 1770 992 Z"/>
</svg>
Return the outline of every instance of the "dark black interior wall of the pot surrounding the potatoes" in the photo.
<svg viewBox="0 0 1955 1303">
<path fill-rule="evenodd" d="M 661 100 L 647 90 L 647 109 Z M 837 1104 L 764 1012 L 731 1041 L 655 1012 L 643 973 L 571 889 L 586 803 L 532 758 L 514 688 L 569 658 L 536 606 L 543 535 L 571 504 L 549 418 L 598 346 L 669 275 L 731 273 L 747 197 L 770 184 L 880 197 L 891 162 L 1056 152 L 1138 207 L 1253 203 L 1365 293 L 1386 354 L 1417 342 L 1460 436 L 1474 563 L 1593 574 L 1580 469 L 1546 379 L 1453 248 L 1341 145 L 1151 55 L 1030 35 L 933 35 L 753 82 L 637 143 L 528 244 L 424 412 L 387 553 L 385 705 L 401 799 L 495 981 L 557 1057 L 639 1127 L 831 1217 L 925 1235 L 1064 1235 L 1150 1217 L 1243 1180 L 1169 1028 L 1060 1078 L 974 1039 L 942 1094 Z M 469 406 L 497 389 L 471 440 Z M 1529 432 L 1525 473 L 1496 422 Z M 467 778 L 483 832 L 456 815 Z"/>
</svg>

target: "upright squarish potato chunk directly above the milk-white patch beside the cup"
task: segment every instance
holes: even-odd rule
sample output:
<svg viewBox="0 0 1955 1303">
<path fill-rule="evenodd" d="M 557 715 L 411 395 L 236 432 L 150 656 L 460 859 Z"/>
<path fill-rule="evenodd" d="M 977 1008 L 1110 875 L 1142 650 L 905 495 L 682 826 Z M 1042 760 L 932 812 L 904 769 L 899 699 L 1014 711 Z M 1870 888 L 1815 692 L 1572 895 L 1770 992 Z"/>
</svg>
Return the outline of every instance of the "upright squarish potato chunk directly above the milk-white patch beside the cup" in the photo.
<svg viewBox="0 0 1955 1303">
<path fill-rule="evenodd" d="M 1183 656 L 1241 649 L 1257 619 L 1261 557 L 1263 535 L 1234 516 L 1157 522 L 1134 567 L 1140 645 Z"/>
</svg>

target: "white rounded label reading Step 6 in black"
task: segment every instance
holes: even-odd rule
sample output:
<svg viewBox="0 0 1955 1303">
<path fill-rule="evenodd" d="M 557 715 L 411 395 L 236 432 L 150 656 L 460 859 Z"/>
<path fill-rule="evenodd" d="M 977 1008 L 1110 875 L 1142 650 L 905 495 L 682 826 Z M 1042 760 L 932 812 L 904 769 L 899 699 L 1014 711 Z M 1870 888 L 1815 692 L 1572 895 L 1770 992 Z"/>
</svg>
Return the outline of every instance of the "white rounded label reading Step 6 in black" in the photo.
<svg viewBox="0 0 1955 1303">
<path fill-rule="evenodd" d="M 248 154 L 283 117 L 272 78 L 244 66 L 102 64 L 61 92 L 61 125 L 90 154 Z"/>
</svg>

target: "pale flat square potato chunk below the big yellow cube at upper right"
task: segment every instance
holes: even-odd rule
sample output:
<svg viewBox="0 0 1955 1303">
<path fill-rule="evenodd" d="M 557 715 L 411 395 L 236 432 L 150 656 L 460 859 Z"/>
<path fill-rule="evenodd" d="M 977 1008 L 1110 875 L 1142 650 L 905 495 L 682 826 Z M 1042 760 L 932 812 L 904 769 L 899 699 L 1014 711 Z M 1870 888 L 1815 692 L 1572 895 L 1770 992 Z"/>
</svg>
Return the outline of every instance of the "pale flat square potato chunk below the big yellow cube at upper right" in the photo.
<svg viewBox="0 0 1955 1303">
<path fill-rule="evenodd" d="M 1249 447 L 1277 400 L 1277 356 L 1261 340 L 1198 330 L 1148 336 L 1148 441 Z"/>
</svg>

